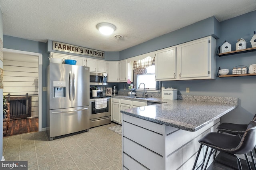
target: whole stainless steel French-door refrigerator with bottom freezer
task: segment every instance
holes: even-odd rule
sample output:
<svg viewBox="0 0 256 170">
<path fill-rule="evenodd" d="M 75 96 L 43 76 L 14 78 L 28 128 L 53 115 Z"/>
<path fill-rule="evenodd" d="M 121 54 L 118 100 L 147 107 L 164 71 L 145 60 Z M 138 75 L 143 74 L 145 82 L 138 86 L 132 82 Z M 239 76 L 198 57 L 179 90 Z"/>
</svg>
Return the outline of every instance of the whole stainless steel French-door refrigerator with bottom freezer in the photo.
<svg viewBox="0 0 256 170">
<path fill-rule="evenodd" d="M 57 136 L 88 131 L 89 67 L 50 63 L 47 78 L 47 134 Z"/>
</svg>

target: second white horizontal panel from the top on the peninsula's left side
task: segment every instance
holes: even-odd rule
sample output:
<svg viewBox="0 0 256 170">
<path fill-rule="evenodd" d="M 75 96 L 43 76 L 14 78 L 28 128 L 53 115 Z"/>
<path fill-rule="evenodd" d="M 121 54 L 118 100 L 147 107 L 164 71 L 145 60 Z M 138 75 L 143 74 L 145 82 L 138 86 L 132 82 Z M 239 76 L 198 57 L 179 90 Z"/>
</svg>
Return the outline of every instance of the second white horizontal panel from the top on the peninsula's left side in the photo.
<svg viewBox="0 0 256 170">
<path fill-rule="evenodd" d="M 142 127 L 123 122 L 124 136 L 134 142 L 160 154 L 164 155 L 164 137 Z M 136 132 L 136 133 L 134 133 Z"/>
</svg>

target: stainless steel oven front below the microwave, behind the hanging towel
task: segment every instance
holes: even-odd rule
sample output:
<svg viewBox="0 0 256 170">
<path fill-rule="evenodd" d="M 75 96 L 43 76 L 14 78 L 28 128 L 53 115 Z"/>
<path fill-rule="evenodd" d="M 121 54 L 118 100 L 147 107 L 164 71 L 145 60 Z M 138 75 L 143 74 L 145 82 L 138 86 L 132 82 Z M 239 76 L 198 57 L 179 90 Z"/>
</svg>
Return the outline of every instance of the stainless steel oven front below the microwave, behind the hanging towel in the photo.
<svg viewBox="0 0 256 170">
<path fill-rule="evenodd" d="M 102 98 L 102 96 L 98 98 Z M 95 101 L 98 98 L 93 97 L 93 99 L 90 99 L 90 128 L 111 123 L 111 97 L 106 97 L 106 108 L 95 109 Z"/>
</svg>

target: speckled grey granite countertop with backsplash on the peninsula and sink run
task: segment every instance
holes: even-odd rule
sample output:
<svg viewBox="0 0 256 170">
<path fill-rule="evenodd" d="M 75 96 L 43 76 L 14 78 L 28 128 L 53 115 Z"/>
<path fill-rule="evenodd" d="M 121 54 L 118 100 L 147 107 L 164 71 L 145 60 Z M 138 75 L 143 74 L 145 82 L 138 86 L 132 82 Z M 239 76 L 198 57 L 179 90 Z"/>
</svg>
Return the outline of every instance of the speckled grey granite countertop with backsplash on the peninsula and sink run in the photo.
<svg viewBox="0 0 256 170">
<path fill-rule="evenodd" d="M 112 97 L 134 100 L 121 95 Z M 194 132 L 238 106 L 238 98 L 235 97 L 178 95 L 178 99 L 135 98 L 136 101 L 155 101 L 162 104 L 126 109 L 121 113 Z"/>
</svg>

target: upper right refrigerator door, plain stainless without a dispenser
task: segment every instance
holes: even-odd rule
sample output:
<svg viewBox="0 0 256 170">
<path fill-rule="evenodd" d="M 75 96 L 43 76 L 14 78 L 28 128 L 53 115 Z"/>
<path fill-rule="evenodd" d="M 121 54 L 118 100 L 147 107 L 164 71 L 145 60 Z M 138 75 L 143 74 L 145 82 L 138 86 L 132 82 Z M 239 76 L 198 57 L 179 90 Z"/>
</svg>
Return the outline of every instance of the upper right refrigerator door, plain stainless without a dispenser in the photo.
<svg viewBox="0 0 256 170">
<path fill-rule="evenodd" d="M 72 107 L 90 105 L 90 70 L 89 67 L 72 65 Z"/>
</svg>

